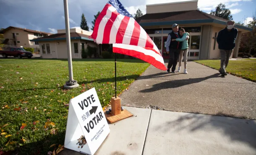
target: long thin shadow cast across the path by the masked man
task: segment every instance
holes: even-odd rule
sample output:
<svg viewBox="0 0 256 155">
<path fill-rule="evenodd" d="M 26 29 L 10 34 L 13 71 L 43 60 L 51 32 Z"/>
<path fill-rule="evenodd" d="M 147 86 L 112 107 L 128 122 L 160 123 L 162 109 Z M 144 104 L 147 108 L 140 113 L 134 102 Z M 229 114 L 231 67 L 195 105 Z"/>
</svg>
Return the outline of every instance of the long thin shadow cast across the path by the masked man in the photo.
<svg viewBox="0 0 256 155">
<path fill-rule="evenodd" d="M 154 91 L 161 90 L 161 89 L 178 88 L 178 87 L 182 87 L 184 85 L 199 83 L 201 81 L 204 81 L 204 80 L 207 80 L 210 78 L 223 78 L 223 77 L 219 76 L 219 73 L 216 73 L 214 75 L 206 76 L 204 78 L 170 80 L 170 81 L 165 81 L 163 83 L 154 84 L 152 88 L 140 90 L 140 92 L 141 93 L 149 93 L 149 92 L 154 92 Z"/>
</svg>

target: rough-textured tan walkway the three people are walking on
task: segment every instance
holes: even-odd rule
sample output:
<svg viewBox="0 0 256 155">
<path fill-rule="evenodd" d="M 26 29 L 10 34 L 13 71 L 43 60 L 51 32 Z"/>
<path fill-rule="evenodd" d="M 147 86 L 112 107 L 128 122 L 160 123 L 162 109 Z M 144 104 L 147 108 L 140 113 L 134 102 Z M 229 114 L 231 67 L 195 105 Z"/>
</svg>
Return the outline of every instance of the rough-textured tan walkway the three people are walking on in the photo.
<svg viewBox="0 0 256 155">
<path fill-rule="evenodd" d="M 134 107 L 256 119 L 255 94 L 254 82 L 233 75 L 223 78 L 217 70 L 188 62 L 188 75 L 150 66 L 120 98 L 123 105 Z"/>
</svg>

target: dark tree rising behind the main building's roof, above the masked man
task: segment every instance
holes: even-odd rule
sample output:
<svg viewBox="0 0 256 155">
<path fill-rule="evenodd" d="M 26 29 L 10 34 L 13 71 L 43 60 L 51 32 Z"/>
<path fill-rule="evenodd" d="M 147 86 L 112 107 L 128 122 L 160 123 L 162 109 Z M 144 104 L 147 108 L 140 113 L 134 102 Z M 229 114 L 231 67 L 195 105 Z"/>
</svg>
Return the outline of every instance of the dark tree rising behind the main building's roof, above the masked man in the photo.
<svg viewBox="0 0 256 155">
<path fill-rule="evenodd" d="M 233 20 L 233 17 L 231 15 L 231 11 L 229 9 L 226 9 L 226 6 L 222 3 L 220 3 L 216 8 L 215 11 L 211 11 L 211 15 L 216 15 L 220 18 L 224 18 L 227 20 Z"/>
</svg>

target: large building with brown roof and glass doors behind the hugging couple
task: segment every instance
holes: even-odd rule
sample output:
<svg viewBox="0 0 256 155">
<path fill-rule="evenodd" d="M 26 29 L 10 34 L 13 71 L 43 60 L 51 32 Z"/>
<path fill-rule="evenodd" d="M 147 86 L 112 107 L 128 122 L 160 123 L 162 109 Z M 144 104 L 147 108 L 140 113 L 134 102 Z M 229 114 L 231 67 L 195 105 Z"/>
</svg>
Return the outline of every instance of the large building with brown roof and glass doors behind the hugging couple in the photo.
<svg viewBox="0 0 256 155">
<path fill-rule="evenodd" d="M 216 37 L 218 32 L 226 27 L 226 19 L 209 15 L 198 10 L 198 0 L 146 5 L 146 14 L 136 21 L 157 45 L 162 56 L 168 58 L 165 49 L 167 36 L 172 30 L 172 24 L 189 32 L 190 39 L 188 59 L 219 59 L 219 49 Z M 236 24 L 238 36 L 231 57 L 238 56 L 241 34 L 251 31 L 251 28 Z"/>
</svg>

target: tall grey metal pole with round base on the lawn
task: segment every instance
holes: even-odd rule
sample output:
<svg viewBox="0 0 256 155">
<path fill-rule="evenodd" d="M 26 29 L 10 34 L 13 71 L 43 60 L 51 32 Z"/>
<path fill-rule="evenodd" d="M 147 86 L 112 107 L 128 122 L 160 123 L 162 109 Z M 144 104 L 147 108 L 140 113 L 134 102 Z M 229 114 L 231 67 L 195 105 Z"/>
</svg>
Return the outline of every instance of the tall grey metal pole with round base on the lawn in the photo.
<svg viewBox="0 0 256 155">
<path fill-rule="evenodd" d="M 69 80 L 64 85 L 65 89 L 77 88 L 79 84 L 73 79 L 72 56 L 71 56 L 71 41 L 69 30 L 69 16 L 68 16 L 68 0 L 64 0 L 64 13 L 65 13 L 65 27 L 66 27 L 66 42 L 68 51 L 68 73 Z"/>
</svg>

